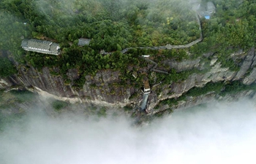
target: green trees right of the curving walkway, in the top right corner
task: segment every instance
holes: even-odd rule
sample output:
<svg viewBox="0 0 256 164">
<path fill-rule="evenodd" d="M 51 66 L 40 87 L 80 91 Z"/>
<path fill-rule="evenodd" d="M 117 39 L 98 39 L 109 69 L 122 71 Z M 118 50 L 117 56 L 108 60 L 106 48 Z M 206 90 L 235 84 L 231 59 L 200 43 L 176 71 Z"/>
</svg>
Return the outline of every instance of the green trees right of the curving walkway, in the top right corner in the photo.
<svg viewBox="0 0 256 164">
<path fill-rule="evenodd" d="M 218 52 L 225 63 L 228 51 L 248 50 L 255 46 L 254 1 L 213 1 L 217 12 L 210 20 L 202 20 L 203 42 L 191 47 L 194 52 Z"/>
</svg>

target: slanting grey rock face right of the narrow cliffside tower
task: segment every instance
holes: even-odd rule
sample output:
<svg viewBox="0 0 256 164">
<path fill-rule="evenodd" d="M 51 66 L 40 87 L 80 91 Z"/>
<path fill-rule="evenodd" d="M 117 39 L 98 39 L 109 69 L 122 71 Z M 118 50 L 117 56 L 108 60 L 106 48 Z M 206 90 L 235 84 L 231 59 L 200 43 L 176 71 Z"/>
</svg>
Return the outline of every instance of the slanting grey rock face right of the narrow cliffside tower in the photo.
<svg viewBox="0 0 256 164">
<path fill-rule="evenodd" d="M 249 50 L 249 52 L 242 52 L 239 51 L 237 53 L 234 53 L 233 60 L 241 60 L 240 63 L 240 69 L 239 71 L 231 71 L 229 68 L 222 68 L 222 64 L 217 61 L 217 58 L 212 57 L 213 59 L 210 62 L 211 69 L 203 74 L 191 74 L 187 79 L 185 79 L 183 82 L 174 82 L 171 85 L 165 85 L 162 89 L 162 93 L 157 96 L 156 94 L 151 95 L 151 104 L 149 105 L 150 109 L 154 109 L 154 106 L 156 106 L 159 101 L 168 99 L 168 98 L 178 98 L 183 93 L 186 93 L 188 90 L 190 90 L 192 87 L 203 87 L 208 82 L 232 82 L 232 81 L 241 81 L 244 83 L 244 85 L 251 85 L 253 82 L 255 82 L 256 79 L 256 69 L 255 69 L 255 49 L 252 48 Z M 196 66 L 200 67 L 199 62 L 196 62 L 197 60 L 190 61 L 191 67 L 195 68 Z M 189 68 L 187 64 L 189 61 L 181 62 L 181 66 L 184 66 L 185 68 Z M 169 63 L 172 65 L 172 63 Z M 173 64 L 173 67 L 175 67 L 176 64 Z M 180 71 L 186 70 L 182 67 L 177 67 Z M 169 94 L 172 93 L 172 94 Z M 251 96 L 255 95 L 255 92 L 252 92 L 252 90 L 249 90 L 248 92 L 239 93 L 239 96 L 249 95 Z M 208 94 L 208 95 L 202 95 L 198 96 L 197 98 L 190 98 L 187 101 L 184 101 L 181 104 L 178 104 L 175 108 L 184 108 L 189 106 L 195 106 L 197 104 L 202 104 L 207 101 L 214 100 L 215 94 Z M 239 97 L 238 96 L 238 97 Z M 153 98 L 152 98 L 153 97 Z M 162 106 L 162 109 L 154 110 L 154 112 L 159 112 L 161 110 L 165 110 L 170 108 L 170 106 Z"/>
</svg>

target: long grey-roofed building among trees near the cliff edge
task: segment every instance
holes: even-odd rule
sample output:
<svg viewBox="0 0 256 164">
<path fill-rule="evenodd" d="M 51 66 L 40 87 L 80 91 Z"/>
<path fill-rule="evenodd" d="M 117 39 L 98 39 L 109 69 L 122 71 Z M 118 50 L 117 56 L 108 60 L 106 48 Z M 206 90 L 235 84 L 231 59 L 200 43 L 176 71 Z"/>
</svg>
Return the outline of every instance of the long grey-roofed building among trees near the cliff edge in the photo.
<svg viewBox="0 0 256 164">
<path fill-rule="evenodd" d="M 26 51 L 33 51 L 50 55 L 59 55 L 61 53 L 59 44 L 39 39 L 23 39 L 20 47 Z"/>
</svg>

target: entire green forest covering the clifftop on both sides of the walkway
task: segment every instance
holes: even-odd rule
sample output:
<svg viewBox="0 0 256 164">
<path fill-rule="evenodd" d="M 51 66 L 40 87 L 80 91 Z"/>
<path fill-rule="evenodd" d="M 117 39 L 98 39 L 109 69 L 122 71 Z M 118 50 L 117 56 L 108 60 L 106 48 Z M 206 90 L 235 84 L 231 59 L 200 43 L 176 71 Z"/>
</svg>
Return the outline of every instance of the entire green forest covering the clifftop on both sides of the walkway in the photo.
<svg viewBox="0 0 256 164">
<path fill-rule="evenodd" d="M 0 2 L 0 50 L 11 52 L 19 63 L 36 67 L 59 67 L 67 79 L 68 69 L 78 69 L 81 87 L 87 74 L 102 69 L 121 72 L 130 79 L 128 67 L 146 66 L 140 55 L 150 54 L 157 60 L 197 58 L 204 52 L 219 55 L 223 66 L 236 69 L 227 60 L 229 52 L 255 46 L 256 4 L 251 0 L 212 0 L 217 8 L 210 20 L 200 17 L 203 41 L 184 50 L 121 50 L 127 47 L 152 47 L 166 44 L 188 44 L 200 37 L 196 12 L 189 2 L 180 0 L 2 0 Z M 207 0 L 202 0 L 206 3 Z M 78 46 L 79 38 L 91 39 L 89 45 Z M 20 42 L 24 38 L 46 39 L 61 45 L 61 55 L 26 52 Z M 99 52 L 112 52 L 101 55 Z M 189 53 L 188 53 L 189 52 Z M 190 55 L 188 55 L 190 54 Z M 10 62 L 1 60 L 10 67 Z M 12 70 L 12 69 L 10 69 Z M 136 70 L 135 70 L 136 71 Z M 176 72 L 175 70 L 170 70 Z M 8 71 L 1 77 L 13 74 Z M 189 72 L 184 73 L 187 76 Z M 159 75 L 165 76 L 165 75 Z M 173 73 L 162 79 L 182 79 Z"/>
</svg>

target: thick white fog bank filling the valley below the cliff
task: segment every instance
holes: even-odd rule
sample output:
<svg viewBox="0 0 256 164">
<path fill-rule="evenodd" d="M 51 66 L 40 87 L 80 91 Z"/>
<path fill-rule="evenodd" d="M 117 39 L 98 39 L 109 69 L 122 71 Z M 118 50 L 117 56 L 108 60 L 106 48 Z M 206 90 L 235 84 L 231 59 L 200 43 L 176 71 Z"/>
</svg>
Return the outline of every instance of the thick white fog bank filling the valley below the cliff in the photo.
<svg viewBox="0 0 256 164">
<path fill-rule="evenodd" d="M 252 101 L 174 112 L 143 127 L 126 117 L 31 114 L 0 133 L 2 164 L 255 163 Z"/>
</svg>

